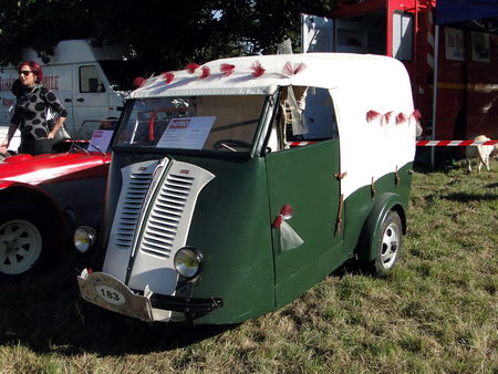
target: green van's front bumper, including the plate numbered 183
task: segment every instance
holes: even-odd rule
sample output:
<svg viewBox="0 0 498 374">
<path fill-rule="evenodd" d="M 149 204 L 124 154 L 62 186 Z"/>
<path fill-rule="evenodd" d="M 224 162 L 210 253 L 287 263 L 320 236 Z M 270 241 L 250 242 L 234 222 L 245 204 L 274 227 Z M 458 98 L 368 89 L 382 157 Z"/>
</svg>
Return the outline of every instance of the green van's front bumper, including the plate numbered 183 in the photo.
<svg viewBox="0 0 498 374">
<path fill-rule="evenodd" d="M 89 273 L 86 269 L 77 277 L 77 284 L 84 300 L 101 308 L 148 322 L 168 322 L 164 318 L 155 318 L 156 310 L 184 313 L 185 320 L 191 321 L 224 305 L 220 298 L 199 299 L 164 295 L 154 293 L 148 289 L 139 294 L 110 274 L 103 272 Z"/>
</svg>

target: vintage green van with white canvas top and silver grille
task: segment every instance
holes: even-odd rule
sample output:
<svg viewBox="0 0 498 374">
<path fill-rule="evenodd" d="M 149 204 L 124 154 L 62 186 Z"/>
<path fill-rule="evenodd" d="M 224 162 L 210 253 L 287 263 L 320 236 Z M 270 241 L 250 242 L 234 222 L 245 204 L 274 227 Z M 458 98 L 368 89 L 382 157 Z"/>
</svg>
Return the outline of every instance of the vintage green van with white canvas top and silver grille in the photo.
<svg viewBox="0 0 498 374">
<path fill-rule="evenodd" d="M 408 75 L 386 56 L 245 56 L 148 79 L 115 132 L 82 297 L 145 321 L 225 324 L 352 257 L 388 271 L 416 122 Z M 75 245 L 94 237 L 83 227 Z"/>
</svg>

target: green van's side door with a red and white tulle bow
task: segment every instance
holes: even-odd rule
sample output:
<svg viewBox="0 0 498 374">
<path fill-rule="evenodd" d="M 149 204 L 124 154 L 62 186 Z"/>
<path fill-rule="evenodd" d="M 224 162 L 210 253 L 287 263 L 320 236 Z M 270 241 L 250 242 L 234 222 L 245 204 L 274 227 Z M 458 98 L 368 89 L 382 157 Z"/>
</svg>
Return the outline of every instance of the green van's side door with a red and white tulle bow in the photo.
<svg viewBox="0 0 498 374">
<path fill-rule="evenodd" d="M 266 155 L 271 219 L 290 205 L 293 215 L 286 222 L 303 241 L 299 247 L 284 248 L 282 229 L 272 229 L 277 307 L 305 292 L 347 257 L 342 248 L 343 225 L 339 230 L 336 227 L 340 142 L 326 90 L 308 90 L 303 117 L 309 132 L 289 143 L 293 135 L 287 129 L 284 141 L 291 147 Z M 282 126 L 282 120 L 277 121 Z"/>
</svg>

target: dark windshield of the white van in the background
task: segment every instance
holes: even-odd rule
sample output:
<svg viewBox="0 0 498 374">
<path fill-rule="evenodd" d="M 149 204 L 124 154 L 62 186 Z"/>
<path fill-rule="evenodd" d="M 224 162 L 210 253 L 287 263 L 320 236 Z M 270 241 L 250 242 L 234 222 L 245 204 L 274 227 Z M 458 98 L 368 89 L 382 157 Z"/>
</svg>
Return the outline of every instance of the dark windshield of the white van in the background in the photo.
<svg viewBox="0 0 498 374">
<path fill-rule="evenodd" d="M 108 60 L 98 62 L 114 91 L 132 91 L 137 76 L 148 76 L 144 64 L 136 60 Z"/>
</svg>

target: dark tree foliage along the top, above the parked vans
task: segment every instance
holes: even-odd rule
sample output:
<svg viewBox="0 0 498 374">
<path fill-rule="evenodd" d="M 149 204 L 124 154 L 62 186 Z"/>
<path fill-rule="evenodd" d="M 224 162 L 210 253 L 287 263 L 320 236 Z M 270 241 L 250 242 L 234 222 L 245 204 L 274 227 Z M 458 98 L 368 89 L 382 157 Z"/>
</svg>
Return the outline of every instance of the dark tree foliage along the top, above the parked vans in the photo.
<svg viewBox="0 0 498 374">
<path fill-rule="evenodd" d="M 300 14 L 326 15 L 330 0 L 0 0 L 0 64 L 23 48 L 48 60 L 60 40 L 118 43 L 152 71 L 234 55 L 300 51 Z"/>
</svg>

